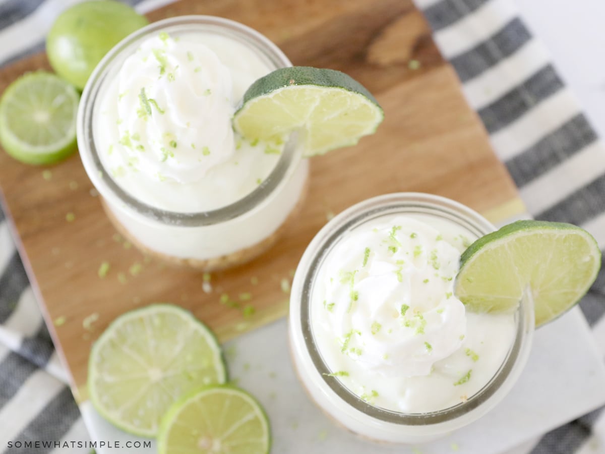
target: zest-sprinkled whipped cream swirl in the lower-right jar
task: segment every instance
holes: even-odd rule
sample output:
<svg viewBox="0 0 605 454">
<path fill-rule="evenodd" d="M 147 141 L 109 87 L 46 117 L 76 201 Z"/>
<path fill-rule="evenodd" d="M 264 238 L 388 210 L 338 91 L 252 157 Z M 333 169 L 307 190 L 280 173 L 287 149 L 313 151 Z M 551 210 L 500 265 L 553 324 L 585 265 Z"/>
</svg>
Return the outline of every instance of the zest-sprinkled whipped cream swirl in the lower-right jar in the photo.
<svg viewBox="0 0 605 454">
<path fill-rule="evenodd" d="M 428 375 L 466 332 L 453 294 L 460 252 L 403 215 L 344 236 L 322 265 L 319 310 L 344 355 L 385 377 Z"/>
</svg>

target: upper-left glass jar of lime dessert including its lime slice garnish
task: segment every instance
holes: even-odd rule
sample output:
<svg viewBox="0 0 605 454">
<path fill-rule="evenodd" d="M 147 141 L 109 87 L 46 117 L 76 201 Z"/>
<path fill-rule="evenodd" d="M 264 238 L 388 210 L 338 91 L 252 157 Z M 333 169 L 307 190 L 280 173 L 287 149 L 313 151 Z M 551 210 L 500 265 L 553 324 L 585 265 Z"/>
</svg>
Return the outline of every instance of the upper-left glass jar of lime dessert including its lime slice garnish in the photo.
<svg viewBox="0 0 605 454">
<path fill-rule="evenodd" d="M 105 56 L 83 92 L 77 140 L 129 241 L 211 271 L 272 245 L 301 207 L 306 158 L 354 145 L 382 118 L 346 74 L 292 67 L 237 22 L 181 16 Z"/>
</svg>

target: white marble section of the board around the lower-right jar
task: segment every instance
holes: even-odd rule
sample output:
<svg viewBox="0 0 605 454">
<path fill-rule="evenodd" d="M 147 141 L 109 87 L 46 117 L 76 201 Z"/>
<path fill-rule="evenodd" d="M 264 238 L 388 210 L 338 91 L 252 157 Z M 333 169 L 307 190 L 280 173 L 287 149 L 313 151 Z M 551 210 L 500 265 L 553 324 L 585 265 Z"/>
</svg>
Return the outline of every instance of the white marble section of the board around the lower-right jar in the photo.
<svg viewBox="0 0 605 454">
<path fill-rule="evenodd" d="M 576 308 L 536 332 L 522 377 L 484 418 L 424 446 L 379 446 L 336 426 L 309 400 L 292 368 L 286 329 L 286 320 L 280 320 L 226 345 L 231 378 L 269 414 L 274 453 L 442 454 L 457 448 L 461 454 L 502 454 L 605 403 L 605 366 Z M 90 403 L 81 409 L 93 439 L 122 444 L 134 439 L 103 421 Z M 111 452 L 97 448 L 99 454 Z"/>
</svg>

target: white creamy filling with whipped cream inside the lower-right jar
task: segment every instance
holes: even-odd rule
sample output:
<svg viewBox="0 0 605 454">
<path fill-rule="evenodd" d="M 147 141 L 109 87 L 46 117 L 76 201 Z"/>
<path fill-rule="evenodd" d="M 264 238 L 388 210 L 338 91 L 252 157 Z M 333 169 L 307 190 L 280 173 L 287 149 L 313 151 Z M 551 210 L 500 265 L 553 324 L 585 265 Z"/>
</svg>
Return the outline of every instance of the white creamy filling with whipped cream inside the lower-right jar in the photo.
<svg viewBox="0 0 605 454">
<path fill-rule="evenodd" d="M 512 315 L 469 314 L 453 294 L 472 240 L 424 215 L 348 232 L 313 289 L 313 334 L 332 374 L 369 403 L 406 413 L 448 408 L 488 383 L 515 323 Z"/>
</svg>

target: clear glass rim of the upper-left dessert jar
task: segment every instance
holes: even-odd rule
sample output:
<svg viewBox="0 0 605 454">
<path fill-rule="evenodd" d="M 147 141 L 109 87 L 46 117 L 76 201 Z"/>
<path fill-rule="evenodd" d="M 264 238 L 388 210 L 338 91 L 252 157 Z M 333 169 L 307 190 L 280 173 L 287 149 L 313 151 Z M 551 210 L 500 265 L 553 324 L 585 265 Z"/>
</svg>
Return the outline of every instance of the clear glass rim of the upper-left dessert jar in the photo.
<svg viewBox="0 0 605 454">
<path fill-rule="evenodd" d="M 203 15 L 176 16 L 152 22 L 146 27 L 134 31 L 114 46 L 99 62 L 84 88 L 76 125 L 77 144 L 84 168 L 94 187 L 105 199 L 110 201 L 116 199 L 118 203 L 128 206 L 136 215 L 146 220 L 184 227 L 196 227 L 215 225 L 240 217 L 269 199 L 283 185 L 287 177 L 293 173 L 296 164 L 302 159 L 298 134 L 291 134 L 275 167 L 257 188 L 229 205 L 208 211 L 178 212 L 143 203 L 122 189 L 106 171 L 100 160 L 93 133 L 95 104 L 99 97 L 99 91 L 104 86 L 105 78 L 120 63 L 120 56 L 126 58 L 128 52 L 131 52 L 142 39 L 160 30 L 176 31 L 177 33 L 178 31 L 216 31 L 221 35 L 235 38 L 243 44 L 253 47 L 254 50 L 269 59 L 275 69 L 292 66 L 283 51 L 272 41 L 240 22 Z"/>
</svg>

